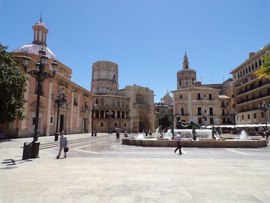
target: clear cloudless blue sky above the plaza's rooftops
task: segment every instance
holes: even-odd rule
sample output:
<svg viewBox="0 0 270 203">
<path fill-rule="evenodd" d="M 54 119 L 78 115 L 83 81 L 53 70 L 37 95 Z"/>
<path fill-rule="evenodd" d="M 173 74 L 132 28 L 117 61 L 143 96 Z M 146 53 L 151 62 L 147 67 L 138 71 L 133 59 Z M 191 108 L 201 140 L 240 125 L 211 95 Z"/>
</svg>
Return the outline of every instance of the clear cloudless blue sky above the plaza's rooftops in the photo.
<svg viewBox="0 0 270 203">
<path fill-rule="evenodd" d="M 270 40 L 269 0 L 0 0 L 0 43 L 12 51 L 33 41 L 42 13 L 47 47 L 90 90 L 92 64 L 118 64 L 119 89 L 139 85 L 158 102 L 177 89 L 184 52 L 202 84 L 229 72 Z M 170 93 L 172 96 L 172 94 Z"/>
</svg>

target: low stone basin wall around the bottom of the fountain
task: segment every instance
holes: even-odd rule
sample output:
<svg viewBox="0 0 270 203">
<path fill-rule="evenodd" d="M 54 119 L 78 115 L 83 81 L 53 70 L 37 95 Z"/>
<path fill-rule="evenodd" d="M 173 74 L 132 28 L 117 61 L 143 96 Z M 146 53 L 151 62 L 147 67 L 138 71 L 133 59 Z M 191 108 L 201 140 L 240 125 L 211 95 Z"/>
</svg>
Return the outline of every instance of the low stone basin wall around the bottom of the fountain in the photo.
<svg viewBox="0 0 270 203">
<path fill-rule="evenodd" d="M 175 140 L 122 138 L 122 144 L 143 147 L 176 147 Z M 182 147 L 209 147 L 209 148 L 259 148 L 266 147 L 265 140 L 182 140 Z"/>
</svg>

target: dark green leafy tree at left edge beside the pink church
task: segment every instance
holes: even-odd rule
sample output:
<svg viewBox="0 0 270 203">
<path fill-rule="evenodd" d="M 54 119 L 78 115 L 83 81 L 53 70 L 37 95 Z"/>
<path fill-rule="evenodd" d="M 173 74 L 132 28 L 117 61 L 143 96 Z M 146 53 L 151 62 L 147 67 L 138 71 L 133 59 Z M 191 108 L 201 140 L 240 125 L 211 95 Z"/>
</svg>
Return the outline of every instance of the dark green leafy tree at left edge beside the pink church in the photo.
<svg viewBox="0 0 270 203">
<path fill-rule="evenodd" d="M 0 43 L 0 122 L 24 119 L 26 75 L 20 71 L 12 53 Z"/>
</svg>

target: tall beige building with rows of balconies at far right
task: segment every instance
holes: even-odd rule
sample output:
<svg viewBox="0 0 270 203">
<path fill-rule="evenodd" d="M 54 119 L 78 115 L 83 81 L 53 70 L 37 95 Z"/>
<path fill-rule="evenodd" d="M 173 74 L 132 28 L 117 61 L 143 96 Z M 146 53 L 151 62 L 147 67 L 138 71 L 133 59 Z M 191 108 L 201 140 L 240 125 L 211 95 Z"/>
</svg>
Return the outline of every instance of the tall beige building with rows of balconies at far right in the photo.
<svg viewBox="0 0 270 203">
<path fill-rule="evenodd" d="M 264 63 L 262 58 L 270 50 L 266 45 L 258 52 L 249 53 L 249 58 L 233 69 L 232 81 L 234 86 L 234 102 L 237 111 L 236 124 L 264 124 L 264 112 L 258 105 L 265 101 L 270 103 L 270 82 L 265 79 L 258 79 L 254 72 L 261 68 Z M 269 111 L 266 111 L 267 124 Z"/>
</svg>

